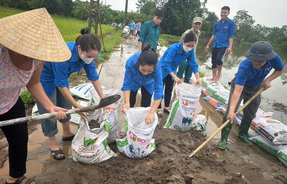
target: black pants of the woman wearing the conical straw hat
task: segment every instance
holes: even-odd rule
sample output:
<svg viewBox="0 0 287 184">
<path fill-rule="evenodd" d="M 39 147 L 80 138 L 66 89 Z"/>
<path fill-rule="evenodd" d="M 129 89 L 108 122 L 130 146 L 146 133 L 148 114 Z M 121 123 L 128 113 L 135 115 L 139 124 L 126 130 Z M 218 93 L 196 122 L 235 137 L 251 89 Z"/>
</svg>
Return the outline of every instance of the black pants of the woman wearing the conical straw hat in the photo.
<svg viewBox="0 0 287 184">
<path fill-rule="evenodd" d="M 0 121 L 25 117 L 25 104 L 19 97 L 16 104 L 6 113 L 0 115 Z M 28 151 L 27 122 L 1 127 L 6 136 L 9 148 L 9 176 L 19 178 L 26 173 Z"/>
</svg>

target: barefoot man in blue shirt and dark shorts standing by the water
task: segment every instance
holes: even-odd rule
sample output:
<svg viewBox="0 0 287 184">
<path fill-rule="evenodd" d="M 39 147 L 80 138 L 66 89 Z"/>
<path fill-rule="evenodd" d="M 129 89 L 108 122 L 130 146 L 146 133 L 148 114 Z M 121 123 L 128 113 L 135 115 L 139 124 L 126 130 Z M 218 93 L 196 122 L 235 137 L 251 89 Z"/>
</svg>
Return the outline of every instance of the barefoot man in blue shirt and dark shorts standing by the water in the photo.
<svg viewBox="0 0 287 184">
<path fill-rule="evenodd" d="M 223 6 L 221 8 L 221 19 L 215 23 L 212 37 L 206 45 L 205 52 L 209 52 L 209 46 L 212 44 L 212 78 L 208 80 L 219 81 L 223 67 L 224 55 L 230 54 L 232 51 L 232 43 L 234 39 L 235 22 L 228 18 L 230 8 Z"/>
</svg>

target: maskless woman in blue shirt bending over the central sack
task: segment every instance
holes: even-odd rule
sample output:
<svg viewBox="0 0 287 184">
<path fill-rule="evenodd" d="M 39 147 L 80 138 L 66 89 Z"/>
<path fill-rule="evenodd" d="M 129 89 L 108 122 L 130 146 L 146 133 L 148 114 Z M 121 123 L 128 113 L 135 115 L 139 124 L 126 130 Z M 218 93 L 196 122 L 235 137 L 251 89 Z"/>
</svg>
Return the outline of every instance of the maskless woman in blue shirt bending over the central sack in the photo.
<svg viewBox="0 0 287 184">
<path fill-rule="evenodd" d="M 138 89 L 141 88 L 141 107 L 149 107 L 152 94 L 154 103 L 149 114 L 145 118 L 146 124 L 150 124 L 154 118 L 156 108 L 163 98 L 163 84 L 161 67 L 158 63 L 158 54 L 155 49 L 147 45 L 143 51 L 132 55 L 126 61 L 126 72 L 123 81 L 122 91 L 124 92 L 126 104 L 122 112 L 134 107 Z"/>
</svg>

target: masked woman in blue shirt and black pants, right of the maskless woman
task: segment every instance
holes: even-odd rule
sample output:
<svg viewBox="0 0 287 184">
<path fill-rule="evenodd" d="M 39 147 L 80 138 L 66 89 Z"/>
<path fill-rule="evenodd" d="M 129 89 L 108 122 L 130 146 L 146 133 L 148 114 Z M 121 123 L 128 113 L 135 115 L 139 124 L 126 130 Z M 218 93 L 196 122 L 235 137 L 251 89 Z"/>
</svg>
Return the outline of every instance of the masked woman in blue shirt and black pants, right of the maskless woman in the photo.
<svg viewBox="0 0 287 184">
<path fill-rule="evenodd" d="M 170 113 L 170 99 L 173 90 L 173 80 L 180 84 L 182 80 L 176 77 L 176 70 L 178 66 L 187 60 L 189 66 L 191 67 L 194 75 L 196 77 L 196 83 L 201 85 L 199 74 L 198 74 L 198 64 L 195 60 L 193 47 L 196 42 L 196 37 L 193 32 L 189 32 L 185 35 L 183 42 L 175 43 L 170 45 L 170 47 L 164 52 L 161 57 L 161 72 L 163 78 L 164 88 L 164 112 Z M 158 106 L 159 117 L 162 117 L 161 104 Z"/>
</svg>

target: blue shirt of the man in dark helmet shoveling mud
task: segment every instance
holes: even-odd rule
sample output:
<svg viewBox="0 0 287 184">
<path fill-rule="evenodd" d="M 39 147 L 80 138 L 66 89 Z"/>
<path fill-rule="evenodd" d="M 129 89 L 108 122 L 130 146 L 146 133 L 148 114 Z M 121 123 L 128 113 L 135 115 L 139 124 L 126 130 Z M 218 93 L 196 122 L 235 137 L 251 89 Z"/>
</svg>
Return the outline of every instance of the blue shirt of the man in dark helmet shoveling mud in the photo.
<svg viewBox="0 0 287 184">
<path fill-rule="evenodd" d="M 273 68 L 276 71 L 282 71 L 284 68 L 284 63 L 278 54 L 276 54 L 272 60 L 268 60 L 265 65 L 259 69 L 254 68 L 251 60 L 246 58 L 240 63 L 238 71 L 235 74 L 235 84 L 258 87 Z"/>
</svg>

